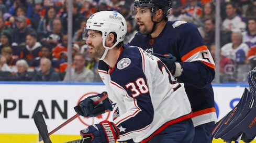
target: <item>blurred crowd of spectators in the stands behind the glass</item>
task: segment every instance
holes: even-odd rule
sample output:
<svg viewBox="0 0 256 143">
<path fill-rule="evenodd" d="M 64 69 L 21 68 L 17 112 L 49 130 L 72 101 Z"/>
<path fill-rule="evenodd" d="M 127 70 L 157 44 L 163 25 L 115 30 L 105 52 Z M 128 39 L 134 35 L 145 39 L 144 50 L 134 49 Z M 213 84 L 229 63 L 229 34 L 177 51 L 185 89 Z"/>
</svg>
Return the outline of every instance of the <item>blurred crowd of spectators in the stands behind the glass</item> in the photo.
<svg viewBox="0 0 256 143">
<path fill-rule="evenodd" d="M 86 19 L 97 11 L 115 10 L 127 21 L 128 43 L 138 31 L 131 17 L 133 0 L 72 1 L 71 82 L 101 82 L 98 59 L 82 40 Z M 173 0 L 169 20 L 192 22 L 215 57 L 215 1 Z M 0 0 L 0 81 L 69 81 L 68 2 Z M 220 0 L 220 79 L 246 82 L 256 66 L 256 0 Z"/>
</svg>

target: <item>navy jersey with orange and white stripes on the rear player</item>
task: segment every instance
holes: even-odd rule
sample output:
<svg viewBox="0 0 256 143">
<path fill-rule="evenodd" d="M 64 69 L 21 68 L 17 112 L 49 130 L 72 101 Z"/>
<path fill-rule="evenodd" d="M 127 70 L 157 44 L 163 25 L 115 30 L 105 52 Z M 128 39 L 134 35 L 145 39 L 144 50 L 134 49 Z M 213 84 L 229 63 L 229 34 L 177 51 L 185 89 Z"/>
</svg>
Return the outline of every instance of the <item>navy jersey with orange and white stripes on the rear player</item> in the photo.
<svg viewBox="0 0 256 143">
<path fill-rule="evenodd" d="M 185 21 L 168 21 L 156 38 L 138 32 L 130 45 L 149 53 L 171 53 L 183 66 L 177 77 L 185 84 L 193 110 L 194 126 L 216 121 L 214 93 L 211 85 L 215 76 L 215 63 L 195 25 Z"/>
</svg>

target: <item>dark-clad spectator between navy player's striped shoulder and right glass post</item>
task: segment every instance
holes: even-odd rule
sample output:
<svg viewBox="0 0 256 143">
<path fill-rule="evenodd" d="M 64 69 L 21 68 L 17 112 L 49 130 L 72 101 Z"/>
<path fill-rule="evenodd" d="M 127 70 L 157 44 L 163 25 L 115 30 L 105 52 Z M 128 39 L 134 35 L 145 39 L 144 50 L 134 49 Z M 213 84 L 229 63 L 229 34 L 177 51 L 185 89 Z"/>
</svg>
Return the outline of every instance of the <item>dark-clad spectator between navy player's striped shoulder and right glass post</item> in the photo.
<svg viewBox="0 0 256 143">
<path fill-rule="evenodd" d="M 215 19 L 205 20 L 204 42 L 208 48 L 215 43 Z"/>
</svg>

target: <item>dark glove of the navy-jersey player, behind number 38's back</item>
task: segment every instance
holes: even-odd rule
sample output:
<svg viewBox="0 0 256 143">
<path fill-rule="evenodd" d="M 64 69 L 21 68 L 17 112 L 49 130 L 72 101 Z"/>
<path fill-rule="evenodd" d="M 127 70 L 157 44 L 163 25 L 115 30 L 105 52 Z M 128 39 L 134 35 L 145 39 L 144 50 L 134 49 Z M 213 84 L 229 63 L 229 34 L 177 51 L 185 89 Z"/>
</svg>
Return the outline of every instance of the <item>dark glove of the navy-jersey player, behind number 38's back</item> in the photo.
<svg viewBox="0 0 256 143">
<path fill-rule="evenodd" d="M 157 53 L 153 53 L 152 55 L 157 56 L 169 69 L 172 75 L 174 75 L 176 69 L 175 61 L 177 60 L 175 56 L 173 56 L 172 54 L 161 55 Z"/>
</svg>

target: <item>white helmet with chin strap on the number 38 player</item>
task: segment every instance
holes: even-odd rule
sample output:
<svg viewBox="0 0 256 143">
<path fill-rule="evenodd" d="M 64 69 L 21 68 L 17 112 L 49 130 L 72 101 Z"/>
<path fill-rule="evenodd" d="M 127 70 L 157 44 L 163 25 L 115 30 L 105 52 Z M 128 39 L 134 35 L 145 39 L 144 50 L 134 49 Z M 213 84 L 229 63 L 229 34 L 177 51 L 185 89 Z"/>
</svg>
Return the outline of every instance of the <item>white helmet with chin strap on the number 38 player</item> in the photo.
<svg viewBox="0 0 256 143">
<path fill-rule="evenodd" d="M 124 41 L 125 34 L 127 33 L 127 25 L 125 18 L 116 11 L 99 11 L 88 18 L 86 28 L 83 32 L 83 40 L 87 40 L 88 30 L 96 30 L 102 32 L 102 43 L 105 48 L 103 56 L 99 60 L 103 60 L 107 55 L 108 49 L 114 48 L 119 42 Z M 106 37 L 110 32 L 115 32 L 116 43 L 112 47 L 105 45 Z"/>
</svg>

